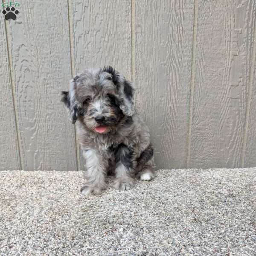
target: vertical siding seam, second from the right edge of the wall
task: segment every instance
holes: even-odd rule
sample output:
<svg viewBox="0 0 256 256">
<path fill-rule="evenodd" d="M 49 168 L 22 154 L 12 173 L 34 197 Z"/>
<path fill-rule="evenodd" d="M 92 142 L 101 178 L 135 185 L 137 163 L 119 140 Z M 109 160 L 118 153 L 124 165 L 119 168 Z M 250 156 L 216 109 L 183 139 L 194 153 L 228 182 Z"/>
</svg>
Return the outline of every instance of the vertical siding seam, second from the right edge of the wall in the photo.
<svg viewBox="0 0 256 256">
<path fill-rule="evenodd" d="M 193 22 L 193 42 L 192 42 L 192 58 L 191 58 L 191 79 L 190 79 L 190 99 L 189 99 L 189 127 L 187 135 L 187 168 L 190 164 L 191 154 L 191 132 L 192 132 L 192 114 L 193 114 L 193 101 L 194 101 L 194 88 L 195 88 L 195 50 L 196 50 L 196 36 L 198 26 L 198 0 L 195 0 L 194 6 L 194 22 Z"/>
</svg>

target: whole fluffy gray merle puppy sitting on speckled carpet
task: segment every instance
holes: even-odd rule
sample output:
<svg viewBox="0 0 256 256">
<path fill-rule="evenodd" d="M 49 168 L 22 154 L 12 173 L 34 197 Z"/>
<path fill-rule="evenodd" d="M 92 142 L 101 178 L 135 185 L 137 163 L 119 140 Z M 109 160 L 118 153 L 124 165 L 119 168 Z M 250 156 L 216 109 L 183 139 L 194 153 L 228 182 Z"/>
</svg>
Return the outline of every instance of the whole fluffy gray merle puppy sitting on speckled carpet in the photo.
<svg viewBox="0 0 256 256">
<path fill-rule="evenodd" d="M 105 177 L 114 174 L 113 187 L 128 190 L 134 178 L 154 177 L 153 148 L 148 127 L 134 109 L 134 86 L 112 67 L 87 69 L 62 91 L 85 158 L 84 195 L 106 189 Z"/>
</svg>

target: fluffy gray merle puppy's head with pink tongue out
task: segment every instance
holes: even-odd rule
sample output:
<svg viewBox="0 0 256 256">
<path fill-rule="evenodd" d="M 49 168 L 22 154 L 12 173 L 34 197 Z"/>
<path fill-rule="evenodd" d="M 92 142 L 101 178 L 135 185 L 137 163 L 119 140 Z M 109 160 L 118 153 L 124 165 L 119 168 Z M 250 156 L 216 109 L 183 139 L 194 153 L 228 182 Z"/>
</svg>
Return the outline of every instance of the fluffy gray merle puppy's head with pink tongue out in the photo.
<svg viewBox="0 0 256 256">
<path fill-rule="evenodd" d="M 113 130 L 124 116 L 134 113 L 134 87 L 112 67 L 88 69 L 70 81 L 62 91 L 69 119 L 77 119 L 98 133 Z"/>
</svg>

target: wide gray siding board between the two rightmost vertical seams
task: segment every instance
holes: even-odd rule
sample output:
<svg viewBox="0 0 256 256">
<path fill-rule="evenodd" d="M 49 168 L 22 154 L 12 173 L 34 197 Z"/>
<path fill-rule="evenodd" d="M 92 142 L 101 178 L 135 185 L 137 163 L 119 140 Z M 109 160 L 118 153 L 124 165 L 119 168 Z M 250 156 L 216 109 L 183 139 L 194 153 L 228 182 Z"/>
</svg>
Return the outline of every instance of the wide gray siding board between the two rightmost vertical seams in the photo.
<svg viewBox="0 0 256 256">
<path fill-rule="evenodd" d="M 255 7 L 198 1 L 191 168 L 241 166 Z"/>
</svg>

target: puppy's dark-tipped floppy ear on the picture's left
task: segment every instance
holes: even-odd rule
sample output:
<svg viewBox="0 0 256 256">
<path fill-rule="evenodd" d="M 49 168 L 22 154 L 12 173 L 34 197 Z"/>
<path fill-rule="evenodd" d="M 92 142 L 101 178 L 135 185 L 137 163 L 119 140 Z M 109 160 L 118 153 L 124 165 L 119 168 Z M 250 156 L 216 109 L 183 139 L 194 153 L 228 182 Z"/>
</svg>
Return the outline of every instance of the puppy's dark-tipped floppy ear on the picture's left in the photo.
<svg viewBox="0 0 256 256">
<path fill-rule="evenodd" d="M 75 87 L 76 81 L 72 79 L 70 81 L 70 90 L 68 92 L 61 91 L 61 102 L 64 102 L 69 114 L 69 119 L 73 124 L 76 122 L 76 119 L 79 115 L 75 98 Z"/>
</svg>

